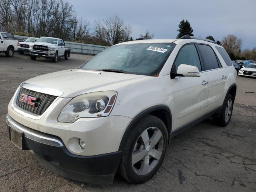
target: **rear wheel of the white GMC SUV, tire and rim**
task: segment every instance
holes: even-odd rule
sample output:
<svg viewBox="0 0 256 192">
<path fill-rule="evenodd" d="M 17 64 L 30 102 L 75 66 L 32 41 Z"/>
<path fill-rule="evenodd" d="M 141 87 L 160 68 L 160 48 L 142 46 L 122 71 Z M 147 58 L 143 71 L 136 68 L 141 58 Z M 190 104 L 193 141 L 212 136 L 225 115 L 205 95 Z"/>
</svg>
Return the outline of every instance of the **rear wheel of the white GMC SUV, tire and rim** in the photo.
<svg viewBox="0 0 256 192">
<path fill-rule="evenodd" d="M 227 95 L 227 98 L 224 102 L 224 106 L 222 108 L 221 114 L 219 117 L 214 116 L 213 120 L 219 126 L 227 126 L 230 122 L 233 111 L 233 97 L 231 94 Z"/>
</svg>

